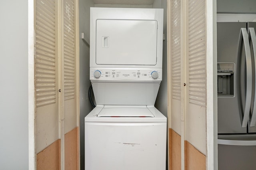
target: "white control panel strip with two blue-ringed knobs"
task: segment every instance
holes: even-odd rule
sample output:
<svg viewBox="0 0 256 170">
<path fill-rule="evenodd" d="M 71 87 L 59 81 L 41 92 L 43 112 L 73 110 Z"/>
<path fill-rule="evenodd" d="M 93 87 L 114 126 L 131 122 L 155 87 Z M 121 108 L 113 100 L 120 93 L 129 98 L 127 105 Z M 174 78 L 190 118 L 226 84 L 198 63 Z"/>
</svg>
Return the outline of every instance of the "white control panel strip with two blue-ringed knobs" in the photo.
<svg viewBox="0 0 256 170">
<path fill-rule="evenodd" d="M 162 69 L 148 68 L 90 68 L 90 80 L 118 81 L 161 81 Z"/>
</svg>

